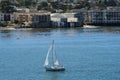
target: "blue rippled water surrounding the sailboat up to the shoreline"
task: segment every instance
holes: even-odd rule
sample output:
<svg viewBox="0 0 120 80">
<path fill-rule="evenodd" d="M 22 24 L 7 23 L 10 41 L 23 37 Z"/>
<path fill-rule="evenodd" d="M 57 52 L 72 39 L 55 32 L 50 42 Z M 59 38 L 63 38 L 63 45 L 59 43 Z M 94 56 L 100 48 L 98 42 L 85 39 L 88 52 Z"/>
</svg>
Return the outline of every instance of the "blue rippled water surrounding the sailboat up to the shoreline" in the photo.
<svg viewBox="0 0 120 80">
<path fill-rule="evenodd" d="M 64 72 L 46 72 L 55 40 Z M 120 28 L 0 31 L 0 80 L 120 80 Z"/>
</svg>

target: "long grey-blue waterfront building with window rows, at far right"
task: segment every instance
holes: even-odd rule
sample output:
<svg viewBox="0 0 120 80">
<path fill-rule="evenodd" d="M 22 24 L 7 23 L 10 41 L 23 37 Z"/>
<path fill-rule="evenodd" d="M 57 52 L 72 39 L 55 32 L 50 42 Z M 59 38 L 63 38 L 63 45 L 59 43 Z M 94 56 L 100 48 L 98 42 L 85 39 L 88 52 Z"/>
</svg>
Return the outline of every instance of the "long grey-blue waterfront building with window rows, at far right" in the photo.
<svg viewBox="0 0 120 80">
<path fill-rule="evenodd" d="M 91 25 L 120 26 L 120 8 L 110 8 L 106 10 L 88 11 L 88 22 Z"/>
</svg>

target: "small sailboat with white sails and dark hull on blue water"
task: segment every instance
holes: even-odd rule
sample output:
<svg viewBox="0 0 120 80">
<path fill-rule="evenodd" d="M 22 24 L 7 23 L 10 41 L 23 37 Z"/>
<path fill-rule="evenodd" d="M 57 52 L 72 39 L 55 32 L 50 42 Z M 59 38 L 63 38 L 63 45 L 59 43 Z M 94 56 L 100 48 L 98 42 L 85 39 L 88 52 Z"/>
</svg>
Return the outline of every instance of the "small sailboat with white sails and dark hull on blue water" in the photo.
<svg viewBox="0 0 120 80">
<path fill-rule="evenodd" d="M 52 53 L 52 60 L 51 60 L 52 64 L 50 64 L 50 60 L 49 60 L 50 52 Z M 54 40 L 48 50 L 44 67 L 46 71 L 64 71 L 65 70 L 64 66 L 61 66 L 59 64 L 59 61 L 57 60 L 55 49 L 54 49 Z"/>
</svg>

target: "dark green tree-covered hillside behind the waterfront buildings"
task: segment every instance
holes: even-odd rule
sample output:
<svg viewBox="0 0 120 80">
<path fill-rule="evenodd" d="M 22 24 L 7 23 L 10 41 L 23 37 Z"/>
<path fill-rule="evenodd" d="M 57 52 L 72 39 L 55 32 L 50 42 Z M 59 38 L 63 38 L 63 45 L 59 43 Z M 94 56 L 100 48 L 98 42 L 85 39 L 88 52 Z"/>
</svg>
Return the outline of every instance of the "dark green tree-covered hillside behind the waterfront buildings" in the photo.
<svg viewBox="0 0 120 80">
<path fill-rule="evenodd" d="M 53 2 L 51 0 L 42 1 L 40 3 L 35 0 L 17 0 L 16 3 L 10 2 L 10 0 L 3 0 L 0 3 L 0 10 L 4 13 L 12 13 L 15 12 L 15 7 L 27 7 L 34 8 L 37 10 L 48 10 L 51 12 L 55 12 L 55 10 L 63 10 L 64 12 L 71 9 L 93 9 L 95 7 L 98 8 L 106 8 L 108 6 L 120 6 L 119 0 L 79 0 L 75 2 L 74 0 L 70 0 L 69 2 L 65 0 L 59 0 Z"/>
</svg>

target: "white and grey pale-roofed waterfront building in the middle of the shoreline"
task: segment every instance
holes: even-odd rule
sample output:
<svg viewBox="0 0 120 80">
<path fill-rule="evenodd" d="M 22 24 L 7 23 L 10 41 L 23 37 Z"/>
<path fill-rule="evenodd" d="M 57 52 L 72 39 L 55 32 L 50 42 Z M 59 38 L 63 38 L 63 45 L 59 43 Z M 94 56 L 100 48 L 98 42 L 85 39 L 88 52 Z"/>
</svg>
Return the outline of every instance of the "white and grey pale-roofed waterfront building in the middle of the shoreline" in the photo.
<svg viewBox="0 0 120 80">
<path fill-rule="evenodd" d="M 80 27 L 83 25 L 80 13 L 53 13 L 51 14 L 53 27 Z"/>
</svg>

